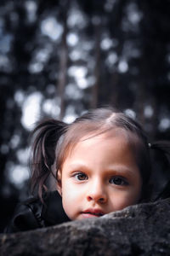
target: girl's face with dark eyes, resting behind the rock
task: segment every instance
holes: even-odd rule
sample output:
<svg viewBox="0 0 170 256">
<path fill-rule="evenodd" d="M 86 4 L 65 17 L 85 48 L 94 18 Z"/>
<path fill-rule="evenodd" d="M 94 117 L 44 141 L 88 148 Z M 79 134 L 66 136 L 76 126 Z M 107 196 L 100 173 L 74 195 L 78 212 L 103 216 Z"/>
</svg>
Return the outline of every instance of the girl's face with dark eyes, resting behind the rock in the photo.
<svg viewBox="0 0 170 256">
<path fill-rule="evenodd" d="M 58 191 L 72 220 L 97 218 L 133 205 L 141 187 L 139 167 L 123 134 L 80 141 L 59 171 Z"/>
</svg>

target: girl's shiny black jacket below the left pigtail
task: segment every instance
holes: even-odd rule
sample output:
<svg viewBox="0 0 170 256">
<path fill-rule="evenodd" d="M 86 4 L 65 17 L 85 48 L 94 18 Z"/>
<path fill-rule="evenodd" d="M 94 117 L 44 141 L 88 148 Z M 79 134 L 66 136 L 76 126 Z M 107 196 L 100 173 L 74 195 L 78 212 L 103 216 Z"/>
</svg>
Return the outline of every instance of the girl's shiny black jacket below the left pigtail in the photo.
<svg viewBox="0 0 170 256">
<path fill-rule="evenodd" d="M 43 201 L 42 204 L 40 199 L 34 197 L 20 203 L 4 232 L 34 230 L 70 220 L 64 212 L 61 197 L 57 191 L 46 194 Z"/>
</svg>

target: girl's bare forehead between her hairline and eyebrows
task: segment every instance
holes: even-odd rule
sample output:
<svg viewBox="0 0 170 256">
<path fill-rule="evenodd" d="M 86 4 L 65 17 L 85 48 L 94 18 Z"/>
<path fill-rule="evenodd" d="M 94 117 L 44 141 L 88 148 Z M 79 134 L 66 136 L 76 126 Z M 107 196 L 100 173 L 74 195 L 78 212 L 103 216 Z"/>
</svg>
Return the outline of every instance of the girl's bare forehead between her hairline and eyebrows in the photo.
<svg viewBox="0 0 170 256">
<path fill-rule="evenodd" d="M 127 138 L 121 134 L 111 136 L 101 134 L 94 137 L 84 137 L 70 152 L 67 152 L 63 166 L 88 166 L 94 170 L 111 169 L 116 166 L 135 166 L 138 169 L 136 158 Z M 129 167 L 130 168 L 130 167 Z"/>
</svg>

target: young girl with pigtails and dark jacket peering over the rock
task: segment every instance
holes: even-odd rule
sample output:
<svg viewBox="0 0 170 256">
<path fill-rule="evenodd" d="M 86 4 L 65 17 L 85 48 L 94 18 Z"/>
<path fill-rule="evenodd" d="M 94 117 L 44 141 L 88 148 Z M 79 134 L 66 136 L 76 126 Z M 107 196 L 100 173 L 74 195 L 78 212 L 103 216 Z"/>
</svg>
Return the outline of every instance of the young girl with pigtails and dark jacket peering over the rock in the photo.
<svg viewBox="0 0 170 256">
<path fill-rule="evenodd" d="M 7 232 L 99 218 L 150 201 L 150 144 L 126 114 L 98 108 L 71 125 L 48 119 L 33 131 L 31 185 L 38 197 L 17 208 Z M 56 189 L 48 192 L 51 174 Z"/>
</svg>

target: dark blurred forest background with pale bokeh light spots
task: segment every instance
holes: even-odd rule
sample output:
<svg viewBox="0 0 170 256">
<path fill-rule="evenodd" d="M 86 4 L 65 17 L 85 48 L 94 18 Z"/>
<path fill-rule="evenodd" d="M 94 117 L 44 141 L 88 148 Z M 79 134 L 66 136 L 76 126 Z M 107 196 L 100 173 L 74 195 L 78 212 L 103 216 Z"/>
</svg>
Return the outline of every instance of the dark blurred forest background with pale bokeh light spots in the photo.
<svg viewBox="0 0 170 256">
<path fill-rule="evenodd" d="M 1 0 L 0 231 L 28 195 L 35 122 L 105 105 L 170 139 L 170 1 Z"/>
</svg>

